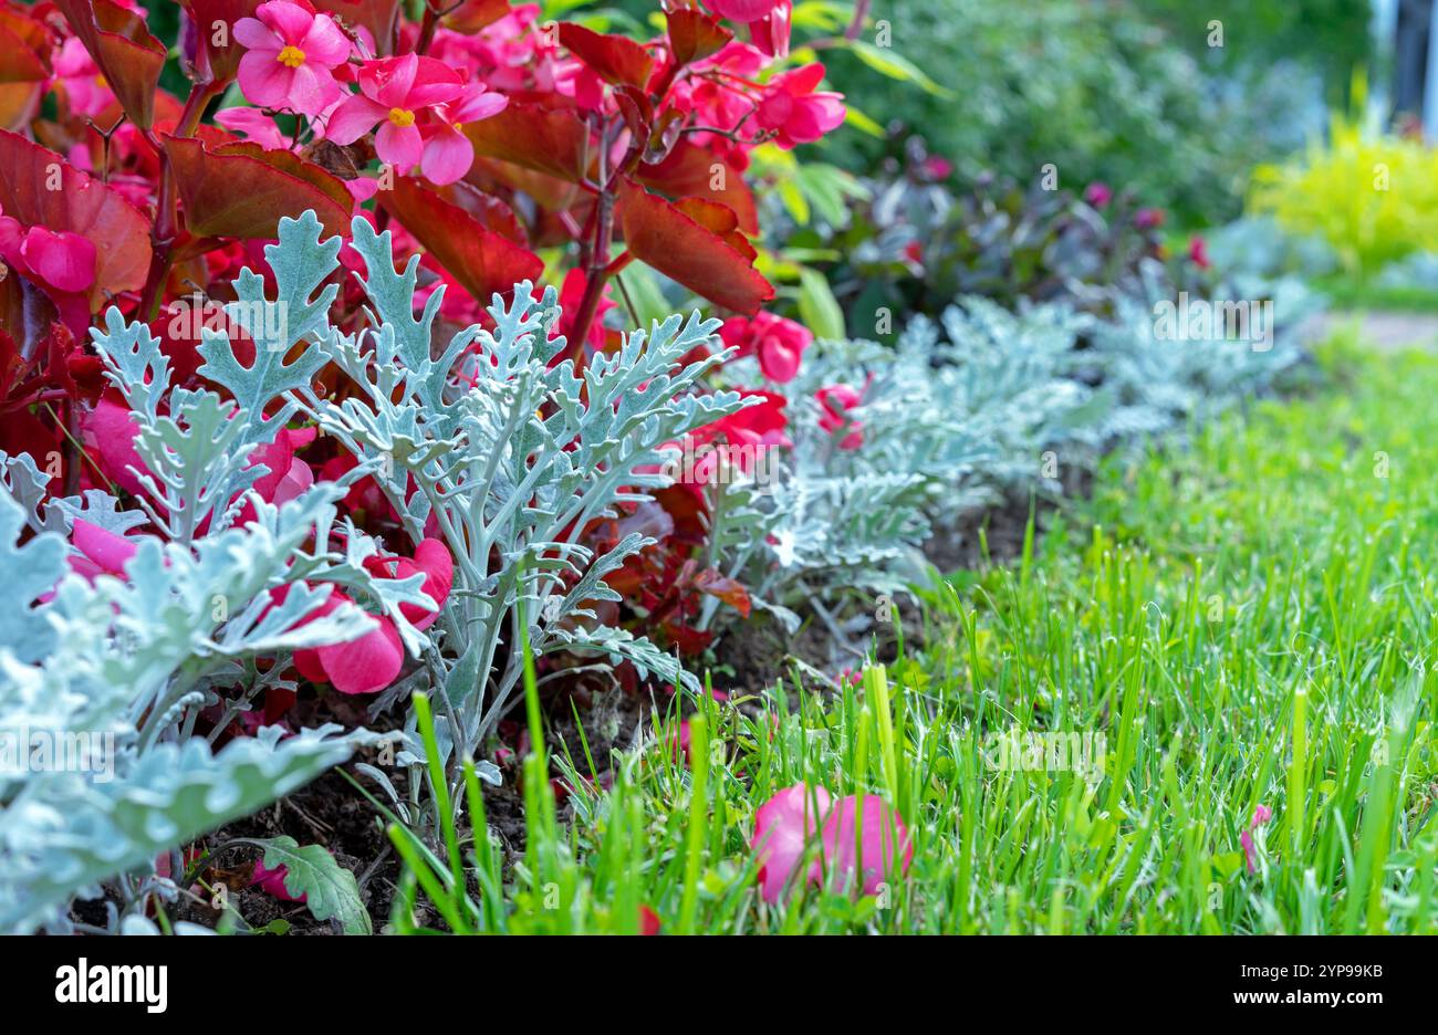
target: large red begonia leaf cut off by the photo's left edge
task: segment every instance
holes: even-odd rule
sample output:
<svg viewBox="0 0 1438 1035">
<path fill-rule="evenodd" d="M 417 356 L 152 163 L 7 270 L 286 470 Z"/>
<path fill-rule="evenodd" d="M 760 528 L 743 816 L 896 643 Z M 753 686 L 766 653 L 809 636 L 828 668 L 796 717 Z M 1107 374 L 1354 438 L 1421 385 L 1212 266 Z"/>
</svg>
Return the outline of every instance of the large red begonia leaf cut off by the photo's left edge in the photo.
<svg viewBox="0 0 1438 1035">
<path fill-rule="evenodd" d="M 52 187 L 55 190 L 52 190 Z M 95 246 L 92 309 L 105 292 L 137 290 L 150 270 L 150 220 L 119 191 L 53 151 L 0 129 L 0 210 L 23 226 L 76 233 Z"/>
</svg>

